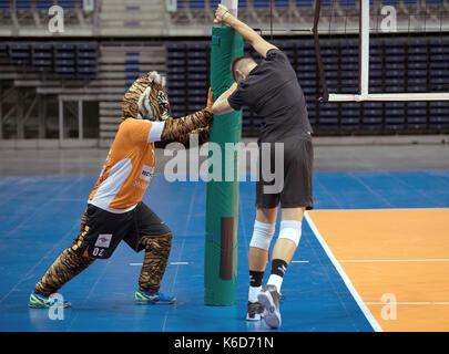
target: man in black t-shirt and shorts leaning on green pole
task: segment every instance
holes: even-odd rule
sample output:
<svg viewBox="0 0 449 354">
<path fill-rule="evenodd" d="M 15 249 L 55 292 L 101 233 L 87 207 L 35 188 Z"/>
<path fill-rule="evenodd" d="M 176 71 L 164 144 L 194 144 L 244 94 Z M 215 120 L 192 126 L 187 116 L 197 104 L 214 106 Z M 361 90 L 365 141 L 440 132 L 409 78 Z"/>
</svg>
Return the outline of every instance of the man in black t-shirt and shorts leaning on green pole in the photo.
<svg viewBox="0 0 449 354">
<path fill-rule="evenodd" d="M 313 208 L 312 127 L 303 90 L 287 56 L 224 6 L 218 6 L 214 22 L 231 25 L 263 58 L 259 64 L 251 56 L 233 61 L 231 70 L 235 83 L 216 100 L 213 113 L 221 115 L 247 106 L 264 121 L 258 139 L 257 214 L 249 243 L 246 319 L 264 317 L 271 327 L 277 329 L 280 326 L 280 285 L 300 239 L 304 211 Z M 275 179 L 280 176 L 282 188 L 274 188 L 277 183 L 274 186 L 273 180 L 265 178 L 273 175 Z M 279 202 L 280 231 L 273 249 L 271 275 L 262 288 Z"/>
</svg>

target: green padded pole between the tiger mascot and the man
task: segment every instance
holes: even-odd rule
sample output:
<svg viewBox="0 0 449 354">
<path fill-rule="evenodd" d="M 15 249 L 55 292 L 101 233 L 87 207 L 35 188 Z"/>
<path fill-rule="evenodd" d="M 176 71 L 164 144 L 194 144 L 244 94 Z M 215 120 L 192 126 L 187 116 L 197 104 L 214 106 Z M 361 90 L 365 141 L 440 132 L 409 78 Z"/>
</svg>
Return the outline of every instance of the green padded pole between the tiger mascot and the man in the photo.
<svg viewBox="0 0 449 354">
<path fill-rule="evenodd" d="M 243 55 L 243 39 L 228 25 L 212 28 L 211 87 L 214 101 L 234 82 L 231 62 Z M 214 116 L 210 135 L 208 158 L 221 155 L 221 178 L 214 179 L 216 168 L 210 165 L 206 192 L 206 241 L 204 258 L 204 303 L 233 305 L 237 278 L 238 162 L 237 154 L 226 154 L 225 144 L 242 140 L 242 112 Z M 220 146 L 221 154 L 211 145 Z M 231 149 L 232 150 L 232 149 Z M 213 156 L 216 154 L 216 156 Z M 231 155 L 231 156 L 229 156 Z M 233 180 L 226 170 L 234 167 Z M 221 179 L 221 180 L 218 180 Z"/>
</svg>

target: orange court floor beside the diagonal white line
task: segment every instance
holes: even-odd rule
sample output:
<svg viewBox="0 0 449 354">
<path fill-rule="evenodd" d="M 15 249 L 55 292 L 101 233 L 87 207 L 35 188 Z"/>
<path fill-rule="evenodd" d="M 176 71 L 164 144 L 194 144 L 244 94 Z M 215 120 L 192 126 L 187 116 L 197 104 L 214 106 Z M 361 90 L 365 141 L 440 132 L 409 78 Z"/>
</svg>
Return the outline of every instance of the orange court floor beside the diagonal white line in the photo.
<svg viewBox="0 0 449 354">
<path fill-rule="evenodd" d="M 449 209 L 308 216 L 382 331 L 449 331 Z"/>
</svg>

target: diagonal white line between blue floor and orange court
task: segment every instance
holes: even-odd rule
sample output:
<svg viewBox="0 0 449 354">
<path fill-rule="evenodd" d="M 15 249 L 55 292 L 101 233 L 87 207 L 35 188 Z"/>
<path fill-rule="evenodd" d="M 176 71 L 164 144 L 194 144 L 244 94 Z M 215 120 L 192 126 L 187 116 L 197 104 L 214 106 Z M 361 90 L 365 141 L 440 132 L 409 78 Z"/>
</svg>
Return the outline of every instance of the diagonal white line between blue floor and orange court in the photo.
<svg viewBox="0 0 449 354">
<path fill-rule="evenodd" d="M 318 229 L 316 228 L 314 221 L 312 220 L 310 216 L 306 211 L 304 214 L 304 217 L 306 218 L 312 231 L 314 232 L 315 237 L 322 244 L 323 249 L 325 250 L 327 257 L 330 259 L 333 262 L 335 269 L 337 272 L 340 274 L 343 281 L 345 282 L 346 287 L 348 288 L 349 292 L 351 293 L 354 300 L 357 302 L 358 306 L 360 308 L 361 312 L 365 314 L 365 317 L 368 320 L 369 324 L 376 332 L 384 332 L 382 329 L 380 327 L 379 323 L 376 321 L 374 317 L 373 313 L 369 311 L 369 309 L 366 306 L 365 302 L 361 300 L 360 295 L 358 294 L 356 288 L 354 288 L 353 283 L 350 282 L 348 275 L 345 273 L 343 270 L 340 263 L 338 260 L 335 258 L 333 252 L 330 251 L 329 247 L 327 246 L 326 241 L 324 240 L 323 236 L 319 233 Z"/>
</svg>

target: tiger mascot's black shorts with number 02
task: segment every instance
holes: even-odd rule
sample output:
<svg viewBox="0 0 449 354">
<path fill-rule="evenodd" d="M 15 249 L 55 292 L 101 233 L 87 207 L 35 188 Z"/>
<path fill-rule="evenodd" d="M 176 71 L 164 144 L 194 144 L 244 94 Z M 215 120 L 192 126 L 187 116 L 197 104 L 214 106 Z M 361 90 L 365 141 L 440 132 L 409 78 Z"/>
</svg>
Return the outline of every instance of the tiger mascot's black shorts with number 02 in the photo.
<svg viewBox="0 0 449 354">
<path fill-rule="evenodd" d="M 140 244 L 142 237 L 170 232 L 161 218 L 142 201 L 124 214 L 110 212 L 89 204 L 72 249 L 86 257 L 106 259 L 122 240 L 140 252 L 143 249 Z"/>
</svg>

